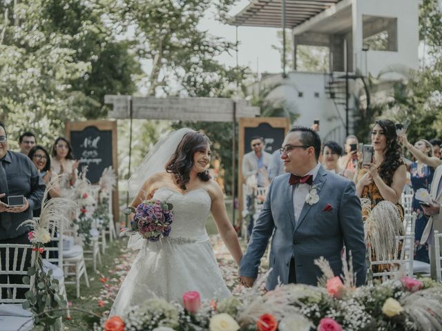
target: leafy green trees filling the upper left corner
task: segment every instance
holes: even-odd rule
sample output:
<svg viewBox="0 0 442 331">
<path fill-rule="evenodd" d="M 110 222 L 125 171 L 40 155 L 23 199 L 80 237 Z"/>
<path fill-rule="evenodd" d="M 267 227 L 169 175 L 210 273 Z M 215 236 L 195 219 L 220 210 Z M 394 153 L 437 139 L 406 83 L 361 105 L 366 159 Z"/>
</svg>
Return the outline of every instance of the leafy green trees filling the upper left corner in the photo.
<svg viewBox="0 0 442 331">
<path fill-rule="evenodd" d="M 64 122 L 102 117 L 106 93 L 135 92 L 140 63 L 99 1 L 1 1 L 0 120 L 50 146 Z"/>
</svg>

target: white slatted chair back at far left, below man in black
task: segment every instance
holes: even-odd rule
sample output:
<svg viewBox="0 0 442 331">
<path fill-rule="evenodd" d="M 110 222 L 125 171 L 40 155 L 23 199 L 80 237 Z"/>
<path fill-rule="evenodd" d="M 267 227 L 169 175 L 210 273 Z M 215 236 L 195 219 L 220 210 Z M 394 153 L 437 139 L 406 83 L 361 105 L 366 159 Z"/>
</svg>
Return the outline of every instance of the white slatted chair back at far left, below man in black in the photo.
<svg viewBox="0 0 442 331">
<path fill-rule="evenodd" d="M 28 275 L 28 269 L 25 268 L 26 258 L 30 256 L 30 266 L 35 265 L 35 251 L 32 250 L 32 245 L 24 245 L 19 243 L 0 243 L 0 275 L 7 277 L 0 277 L 0 303 L 22 303 L 26 299 L 17 299 L 17 289 L 28 289 L 34 286 L 35 276 L 30 277 L 29 284 L 10 283 L 8 276 L 21 275 L 25 277 Z M 6 278 L 6 283 L 3 281 Z M 6 288 L 11 293 L 11 297 L 2 297 L 3 288 Z"/>
</svg>

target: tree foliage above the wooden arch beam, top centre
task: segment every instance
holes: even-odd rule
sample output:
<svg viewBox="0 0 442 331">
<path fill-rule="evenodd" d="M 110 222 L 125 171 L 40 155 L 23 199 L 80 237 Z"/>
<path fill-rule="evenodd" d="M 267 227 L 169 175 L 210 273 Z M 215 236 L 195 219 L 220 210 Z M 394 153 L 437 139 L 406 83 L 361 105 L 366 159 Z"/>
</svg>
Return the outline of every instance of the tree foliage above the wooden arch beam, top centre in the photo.
<svg viewBox="0 0 442 331">
<path fill-rule="evenodd" d="M 215 9 L 224 17 L 233 1 L 221 1 Z M 135 51 L 151 63 L 148 95 L 216 97 L 224 83 L 240 70 L 229 70 L 214 58 L 233 52 L 235 45 L 197 28 L 213 0 L 122 0 L 113 3 L 109 15 L 117 29 L 135 28 Z"/>
</svg>

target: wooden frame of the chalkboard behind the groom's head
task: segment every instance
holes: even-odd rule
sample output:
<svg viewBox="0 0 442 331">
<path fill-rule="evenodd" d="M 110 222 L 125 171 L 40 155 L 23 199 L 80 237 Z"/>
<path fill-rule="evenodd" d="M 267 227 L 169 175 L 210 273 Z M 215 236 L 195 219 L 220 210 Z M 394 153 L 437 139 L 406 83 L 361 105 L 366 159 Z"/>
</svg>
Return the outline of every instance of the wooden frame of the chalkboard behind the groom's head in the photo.
<svg viewBox="0 0 442 331">
<path fill-rule="evenodd" d="M 272 128 L 284 129 L 284 135 L 287 135 L 290 129 L 290 121 L 287 117 L 243 117 L 239 119 L 239 136 L 238 136 L 238 201 L 239 201 L 239 217 L 242 221 L 242 209 L 245 201 L 242 201 L 242 184 L 245 183 L 242 177 L 242 157 L 244 155 L 244 137 L 246 128 L 258 128 L 260 124 L 267 123 Z"/>
</svg>

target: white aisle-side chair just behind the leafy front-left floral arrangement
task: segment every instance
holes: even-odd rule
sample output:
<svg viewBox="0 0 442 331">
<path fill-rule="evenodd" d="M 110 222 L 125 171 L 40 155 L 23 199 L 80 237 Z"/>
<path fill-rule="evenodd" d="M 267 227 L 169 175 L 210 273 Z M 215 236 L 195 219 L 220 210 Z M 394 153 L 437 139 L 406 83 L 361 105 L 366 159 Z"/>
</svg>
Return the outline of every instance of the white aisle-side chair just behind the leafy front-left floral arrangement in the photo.
<svg viewBox="0 0 442 331">
<path fill-rule="evenodd" d="M 88 272 L 86 271 L 86 263 L 84 261 L 84 251 L 81 246 L 81 240 L 78 239 L 75 227 L 64 226 L 63 240 L 71 243 L 64 245 L 63 250 L 63 269 L 65 276 L 65 284 L 74 284 L 77 290 L 77 298 L 80 297 L 80 281 L 84 276 L 86 287 L 89 287 Z M 77 240 L 76 240 L 77 239 Z M 71 271 L 71 270 L 74 271 Z M 75 281 L 67 281 L 68 277 L 75 277 Z"/>
</svg>

